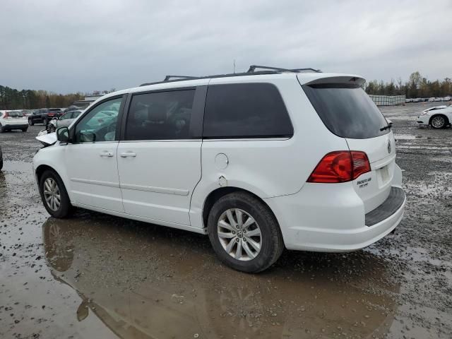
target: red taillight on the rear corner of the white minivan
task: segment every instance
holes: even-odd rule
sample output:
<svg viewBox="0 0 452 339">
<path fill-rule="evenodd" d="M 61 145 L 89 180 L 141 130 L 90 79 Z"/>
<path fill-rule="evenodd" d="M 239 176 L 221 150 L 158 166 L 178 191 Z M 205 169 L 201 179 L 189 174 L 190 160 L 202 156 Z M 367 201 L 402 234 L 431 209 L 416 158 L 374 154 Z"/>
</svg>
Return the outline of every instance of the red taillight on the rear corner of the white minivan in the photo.
<svg viewBox="0 0 452 339">
<path fill-rule="evenodd" d="M 350 182 L 370 172 L 369 158 L 358 150 L 337 150 L 325 155 L 307 182 Z"/>
</svg>

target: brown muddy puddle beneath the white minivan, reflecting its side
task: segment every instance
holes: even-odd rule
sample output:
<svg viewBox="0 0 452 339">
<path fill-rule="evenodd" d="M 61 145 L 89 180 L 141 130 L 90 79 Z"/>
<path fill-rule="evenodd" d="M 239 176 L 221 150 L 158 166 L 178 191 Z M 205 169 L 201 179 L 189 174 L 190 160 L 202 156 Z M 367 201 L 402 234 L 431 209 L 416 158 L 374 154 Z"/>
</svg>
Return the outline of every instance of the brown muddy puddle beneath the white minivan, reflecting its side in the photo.
<svg viewBox="0 0 452 339">
<path fill-rule="evenodd" d="M 392 322 L 398 286 L 378 257 L 285 254 L 247 275 L 207 237 L 97 213 L 43 225 L 54 278 L 122 338 L 365 338 Z"/>
</svg>

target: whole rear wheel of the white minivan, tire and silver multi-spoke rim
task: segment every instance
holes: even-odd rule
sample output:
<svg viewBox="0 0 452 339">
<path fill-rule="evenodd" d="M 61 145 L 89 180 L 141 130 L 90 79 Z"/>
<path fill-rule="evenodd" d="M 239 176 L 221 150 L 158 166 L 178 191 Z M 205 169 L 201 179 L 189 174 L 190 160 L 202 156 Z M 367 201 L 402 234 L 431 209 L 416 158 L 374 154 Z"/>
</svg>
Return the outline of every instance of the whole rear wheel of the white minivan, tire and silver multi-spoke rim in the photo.
<svg viewBox="0 0 452 339">
<path fill-rule="evenodd" d="M 220 261 L 246 273 L 270 267 L 284 249 L 275 215 L 246 192 L 227 194 L 213 205 L 208 233 Z"/>
</svg>

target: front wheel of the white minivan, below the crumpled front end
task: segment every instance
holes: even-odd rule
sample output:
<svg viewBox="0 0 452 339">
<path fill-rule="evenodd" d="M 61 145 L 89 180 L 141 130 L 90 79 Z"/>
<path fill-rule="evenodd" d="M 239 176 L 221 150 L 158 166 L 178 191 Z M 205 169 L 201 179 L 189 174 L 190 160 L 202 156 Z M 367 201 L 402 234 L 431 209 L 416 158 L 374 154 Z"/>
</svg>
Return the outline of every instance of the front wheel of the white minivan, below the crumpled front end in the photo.
<svg viewBox="0 0 452 339">
<path fill-rule="evenodd" d="M 52 217 L 66 218 L 71 214 L 72 206 L 69 195 L 57 173 L 47 170 L 42 174 L 40 194 L 45 209 Z"/>
</svg>

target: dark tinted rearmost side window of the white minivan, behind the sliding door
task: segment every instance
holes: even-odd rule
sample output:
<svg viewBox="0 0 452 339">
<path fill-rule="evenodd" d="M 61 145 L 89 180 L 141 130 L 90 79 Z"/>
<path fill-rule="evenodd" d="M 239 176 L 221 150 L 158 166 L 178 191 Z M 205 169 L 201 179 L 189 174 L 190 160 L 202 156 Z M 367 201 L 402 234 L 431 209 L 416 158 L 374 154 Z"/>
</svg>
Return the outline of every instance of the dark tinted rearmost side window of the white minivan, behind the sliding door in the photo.
<svg viewBox="0 0 452 339">
<path fill-rule="evenodd" d="M 276 138 L 294 133 L 278 88 L 270 83 L 209 85 L 204 138 Z"/>
</svg>

